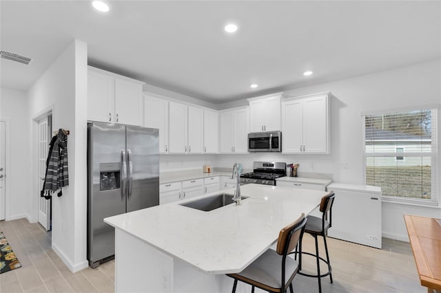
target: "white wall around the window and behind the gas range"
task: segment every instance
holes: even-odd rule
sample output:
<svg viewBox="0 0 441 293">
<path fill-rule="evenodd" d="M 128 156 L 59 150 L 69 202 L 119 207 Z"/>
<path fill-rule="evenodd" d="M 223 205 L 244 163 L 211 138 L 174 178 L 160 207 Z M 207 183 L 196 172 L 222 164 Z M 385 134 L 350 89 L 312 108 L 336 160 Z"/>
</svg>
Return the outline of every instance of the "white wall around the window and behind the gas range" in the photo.
<svg viewBox="0 0 441 293">
<path fill-rule="evenodd" d="M 245 168 L 254 160 L 275 160 L 287 163 L 300 162 L 302 173 L 331 173 L 334 182 L 363 184 L 362 116 L 364 111 L 440 105 L 441 61 L 402 67 L 376 74 L 358 76 L 311 87 L 289 91 L 293 96 L 331 91 L 331 153 L 329 155 L 219 155 L 214 166 L 231 167 L 242 162 Z M 440 128 L 438 119 L 438 129 Z M 438 135 L 440 131 L 438 130 Z M 438 143 L 438 149 L 439 143 Z M 441 168 L 441 155 L 438 169 Z M 441 171 L 441 170 L 440 170 Z M 439 174 L 439 173 L 438 173 Z M 439 177 L 439 176 L 438 176 Z M 441 180 L 440 180 L 441 181 Z M 441 182 L 438 184 L 438 200 L 441 202 Z M 406 204 L 382 204 L 383 235 L 407 241 L 403 214 L 441 217 L 440 208 L 409 206 Z"/>
</svg>

